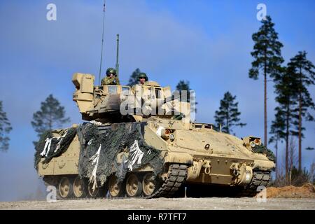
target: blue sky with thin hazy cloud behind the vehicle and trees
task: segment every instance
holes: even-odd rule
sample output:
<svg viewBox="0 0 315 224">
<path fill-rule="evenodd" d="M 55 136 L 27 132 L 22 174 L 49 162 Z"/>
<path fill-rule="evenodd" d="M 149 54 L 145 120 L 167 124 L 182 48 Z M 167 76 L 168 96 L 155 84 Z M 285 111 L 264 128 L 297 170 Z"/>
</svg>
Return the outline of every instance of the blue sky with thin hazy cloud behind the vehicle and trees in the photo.
<svg viewBox="0 0 315 224">
<path fill-rule="evenodd" d="M 57 7 L 55 21 L 46 19 L 48 3 Z M 315 1 L 106 0 L 102 76 L 115 66 L 120 34 L 121 83 L 137 68 L 173 90 L 179 80 L 189 80 L 202 123 L 214 123 L 220 100 L 230 91 L 237 96 L 241 121 L 247 123 L 234 129 L 237 137 L 263 137 L 262 78 L 248 78 L 251 35 L 260 27 L 258 3 L 265 3 L 275 23 L 285 63 L 300 50 L 315 63 Z M 0 201 L 25 200 L 43 187 L 33 165 L 32 141 L 37 137 L 31 120 L 49 94 L 65 107 L 71 123 L 82 123 L 72 102 L 71 77 L 92 73 L 98 82 L 102 16 L 102 0 L 0 1 L 0 100 L 13 127 L 10 148 L 0 153 L 5 183 Z M 315 99 L 315 87 L 309 91 Z M 267 92 L 270 127 L 276 106 L 272 81 Z M 304 124 L 302 162 L 308 169 L 315 151 L 304 148 L 315 146 L 315 123 Z M 284 147 L 279 147 L 279 157 Z"/>
</svg>

